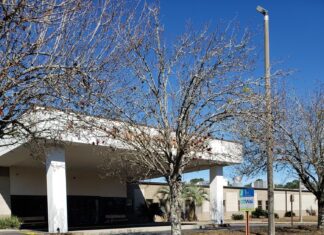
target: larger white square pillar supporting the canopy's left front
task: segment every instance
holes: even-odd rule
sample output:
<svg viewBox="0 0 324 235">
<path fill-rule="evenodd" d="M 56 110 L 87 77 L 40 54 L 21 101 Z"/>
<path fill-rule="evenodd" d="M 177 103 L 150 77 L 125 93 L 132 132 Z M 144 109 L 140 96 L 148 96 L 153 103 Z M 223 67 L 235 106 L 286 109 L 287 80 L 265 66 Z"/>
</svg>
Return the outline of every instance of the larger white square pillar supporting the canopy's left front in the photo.
<svg viewBox="0 0 324 235">
<path fill-rule="evenodd" d="M 67 225 L 67 199 L 65 151 L 62 147 L 46 149 L 48 231 L 65 233 Z"/>
</svg>

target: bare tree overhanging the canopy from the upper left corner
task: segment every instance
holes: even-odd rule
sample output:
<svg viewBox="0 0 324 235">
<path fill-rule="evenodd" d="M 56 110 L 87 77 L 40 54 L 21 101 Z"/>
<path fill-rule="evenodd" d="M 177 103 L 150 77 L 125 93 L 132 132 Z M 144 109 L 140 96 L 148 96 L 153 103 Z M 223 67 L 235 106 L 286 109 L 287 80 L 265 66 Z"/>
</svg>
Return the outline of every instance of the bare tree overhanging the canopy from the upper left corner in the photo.
<svg viewBox="0 0 324 235">
<path fill-rule="evenodd" d="M 1 1 L 0 138 L 8 140 L 3 144 L 34 135 L 32 124 L 19 120 L 35 106 L 80 111 L 90 88 L 103 92 L 105 82 L 110 83 L 105 86 L 110 94 L 116 91 L 114 72 L 126 52 L 119 35 L 133 23 L 137 5 L 109 0 Z"/>
</svg>

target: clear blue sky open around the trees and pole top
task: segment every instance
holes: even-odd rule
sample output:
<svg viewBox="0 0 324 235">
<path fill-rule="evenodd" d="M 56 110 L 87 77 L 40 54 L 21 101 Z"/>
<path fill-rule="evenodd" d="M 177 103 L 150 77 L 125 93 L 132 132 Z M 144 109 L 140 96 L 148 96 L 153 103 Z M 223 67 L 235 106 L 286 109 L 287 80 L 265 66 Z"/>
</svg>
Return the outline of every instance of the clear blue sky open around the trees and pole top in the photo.
<svg viewBox="0 0 324 235">
<path fill-rule="evenodd" d="M 219 21 L 235 19 L 241 27 L 255 30 L 258 49 L 263 53 L 263 17 L 255 8 L 261 5 L 270 14 L 271 61 L 278 69 L 295 72 L 287 78 L 288 86 L 297 94 L 306 96 L 318 84 L 324 82 L 324 1 L 323 0 L 161 0 L 161 21 L 166 37 L 174 37 L 190 20 L 199 28 L 205 23 L 215 25 Z M 259 43 L 258 43 L 259 41 Z M 263 56 L 260 56 L 262 66 Z M 262 76 L 262 70 L 260 76 Z M 230 176 L 231 168 L 225 168 Z M 203 177 L 208 172 L 189 174 L 185 180 Z M 265 176 L 261 177 L 265 179 Z M 288 176 L 275 177 L 276 183 L 291 180 Z"/>
</svg>

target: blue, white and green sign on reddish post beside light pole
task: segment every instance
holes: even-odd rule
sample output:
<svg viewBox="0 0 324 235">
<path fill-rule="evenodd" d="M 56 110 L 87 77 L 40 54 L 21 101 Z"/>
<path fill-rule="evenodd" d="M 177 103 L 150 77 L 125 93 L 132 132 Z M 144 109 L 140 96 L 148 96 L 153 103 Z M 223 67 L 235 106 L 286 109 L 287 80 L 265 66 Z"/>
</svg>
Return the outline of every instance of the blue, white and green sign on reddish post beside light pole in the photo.
<svg viewBox="0 0 324 235">
<path fill-rule="evenodd" d="M 240 211 L 246 212 L 245 234 L 249 235 L 249 212 L 254 211 L 254 189 L 246 188 L 240 190 Z"/>
</svg>

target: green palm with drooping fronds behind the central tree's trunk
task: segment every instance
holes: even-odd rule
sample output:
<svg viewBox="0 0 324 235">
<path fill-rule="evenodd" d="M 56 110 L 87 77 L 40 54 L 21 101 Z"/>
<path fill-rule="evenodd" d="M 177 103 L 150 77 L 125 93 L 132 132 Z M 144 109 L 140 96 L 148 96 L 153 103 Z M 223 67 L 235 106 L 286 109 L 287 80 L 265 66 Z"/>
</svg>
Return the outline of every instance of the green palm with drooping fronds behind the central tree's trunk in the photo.
<svg viewBox="0 0 324 235">
<path fill-rule="evenodd" d="M 161 201 L 161 207 L 165 209 L 166 214 L 168 211 L 168 203 L 170 201 L 170 190 L 168 187 L 162 187 L 156 193 Z M 209 200 L 209 196 L 205 189 L 196 184 L 184 184 L 182 187 L 181 198 L 184 202 L 189 202 L 189 210 L 186 219 L 189 221 L 197 220 L 196 206 L 201 206 L 203 201 Z"/>
</svg>

